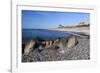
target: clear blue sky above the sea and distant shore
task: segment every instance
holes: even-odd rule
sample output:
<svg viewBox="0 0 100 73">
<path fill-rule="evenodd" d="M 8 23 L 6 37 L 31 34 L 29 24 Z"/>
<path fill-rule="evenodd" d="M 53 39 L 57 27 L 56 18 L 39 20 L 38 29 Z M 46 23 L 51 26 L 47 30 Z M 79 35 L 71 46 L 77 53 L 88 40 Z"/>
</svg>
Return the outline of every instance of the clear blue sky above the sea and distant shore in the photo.
<svg viewBox="0 0 100 73">
<path fill-rule="evenodd" d="M 78 25 L 80 22 L 90 23 L 89 13 L 48 12 L 22 10 L 23 29 L 52 29 L 63 26 Z"/>
</svg>

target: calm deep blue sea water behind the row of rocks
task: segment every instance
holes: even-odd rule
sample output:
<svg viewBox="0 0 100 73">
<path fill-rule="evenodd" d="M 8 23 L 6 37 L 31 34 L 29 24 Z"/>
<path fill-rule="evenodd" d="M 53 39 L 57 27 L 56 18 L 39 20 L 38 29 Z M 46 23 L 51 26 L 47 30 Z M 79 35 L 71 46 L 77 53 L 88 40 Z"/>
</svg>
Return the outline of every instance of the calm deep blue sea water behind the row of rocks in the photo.
<svg viewBox="0 0 100 73">
<path fill-rule="evenodd" d="M 31 39 L 40 40 L 55 40 L 61 37 L 69 37 L 69 32 L 54 31 L 47 29 L 22 29 L 22 41 L 28 41 Z"/>
</svg>

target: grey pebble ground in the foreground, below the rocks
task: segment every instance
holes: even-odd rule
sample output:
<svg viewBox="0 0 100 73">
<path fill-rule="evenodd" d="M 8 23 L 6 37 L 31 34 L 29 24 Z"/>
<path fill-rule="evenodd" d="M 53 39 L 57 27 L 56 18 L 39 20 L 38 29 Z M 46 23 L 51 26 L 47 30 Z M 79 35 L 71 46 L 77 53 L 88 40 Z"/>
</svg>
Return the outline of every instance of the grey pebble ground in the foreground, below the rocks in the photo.
<svg viewBox="0 0 100 73">
<path fill-rule="evenodd" d="M 41 52 L 35 49 L 29 56 L 22 55 L 22 62 L 63 61 L 63 60 L 87 60 L 90 59 L 90 39 L 78 38 L 79 43 L 69 50 L 43 49 Z M 40 47 L 40 49 L 42 49 Z"/>
</svg>

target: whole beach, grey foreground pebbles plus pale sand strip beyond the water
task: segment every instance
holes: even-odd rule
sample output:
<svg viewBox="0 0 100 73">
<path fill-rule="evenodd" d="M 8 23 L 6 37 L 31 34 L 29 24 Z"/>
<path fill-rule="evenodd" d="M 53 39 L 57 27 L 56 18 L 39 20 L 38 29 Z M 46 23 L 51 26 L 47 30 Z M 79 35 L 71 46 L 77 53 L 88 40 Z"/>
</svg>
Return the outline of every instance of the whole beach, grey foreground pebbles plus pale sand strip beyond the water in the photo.
<svg viewBox="0 0 100 73">
<path fill-rule="evenodd" d="M 51 31 L 77 32 L 83 37 L 77 37 L 78 44 L 71 48 L 65 48 L 65 53 L 60 54 L 57 49 L 44 48 L 41 52 L 38 49 L 33 49 L 32 52 L 25 56 L 22 54 L 22 62 L 43 62 L 43 61 L 64 61 L 64 60 L 89 60 L 90 59 L 90 27 L 68 27 L 47 29 Z M 84 33 L 84 34 L 82 34 Z"/>
</svg>

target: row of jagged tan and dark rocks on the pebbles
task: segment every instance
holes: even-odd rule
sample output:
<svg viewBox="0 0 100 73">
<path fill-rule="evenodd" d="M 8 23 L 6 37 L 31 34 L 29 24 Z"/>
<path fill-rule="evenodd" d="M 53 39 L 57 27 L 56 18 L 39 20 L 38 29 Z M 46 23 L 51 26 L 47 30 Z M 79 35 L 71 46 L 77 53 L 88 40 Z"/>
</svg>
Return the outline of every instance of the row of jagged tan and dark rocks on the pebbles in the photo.
<svg viewBox="0 0 100 73">
<path fill-rule="evenodd" d="M 64 53 L 64 48 L 70 48 L 75 46 L 78 43 L 76 36 L 71 36 L 69 38 L 58 38 L 55 40 L 48 41 L 40 41 L 40 40 L 30 40 L 25 44 L 24 54 L 28 55 L 32 49 L 43 50 L 46 48 L 55 47 L 55 49 L 59 49 L 59 53 Z"/>
</svg>

